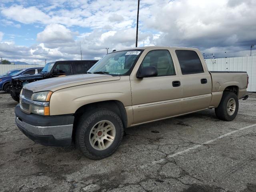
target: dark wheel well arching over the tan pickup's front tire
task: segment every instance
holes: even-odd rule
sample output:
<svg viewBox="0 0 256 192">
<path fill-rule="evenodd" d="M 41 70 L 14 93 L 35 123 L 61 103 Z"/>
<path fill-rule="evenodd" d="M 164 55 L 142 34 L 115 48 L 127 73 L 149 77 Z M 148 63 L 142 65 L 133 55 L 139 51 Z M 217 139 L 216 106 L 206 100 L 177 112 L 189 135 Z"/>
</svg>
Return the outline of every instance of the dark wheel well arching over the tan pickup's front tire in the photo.
<svg viewBox="0 0 256 192">
<path fill-rule="evenodd" d="M 74 128 L 76 127 L 76 123 L 78 123 L 78 119 L 80 118 L 80 116 L 82 114 L 84 114 L 86 112 L 88 113 L 95 108 L 106 108 L 106 109 L 109 109 L 109 110 L 115 112 L 116 114 L 118 114 L 120 116 L 120 118 L 123 122 L 124 128 L 127 127 L 127 114 L 126 114 L 126 110 L 125 110 L 122 102 L 120 102 L 118 100 L 108 100 L 108 101 L 101 101 L 101 102 L 86 104 L 86 105 L 78 108 L 78 110 L 76 110 L 76 112 L 74 114 L 74 116 L 75 116 Z"/>
</svg>

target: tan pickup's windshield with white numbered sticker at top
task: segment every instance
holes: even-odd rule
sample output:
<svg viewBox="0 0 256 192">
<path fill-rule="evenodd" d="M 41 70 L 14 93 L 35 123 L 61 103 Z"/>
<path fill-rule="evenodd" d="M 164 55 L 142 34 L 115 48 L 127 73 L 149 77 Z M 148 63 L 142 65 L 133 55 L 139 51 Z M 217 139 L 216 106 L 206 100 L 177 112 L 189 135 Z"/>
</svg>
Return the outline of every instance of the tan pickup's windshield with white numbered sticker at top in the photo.
<svg viewBox="0 0 256 192">
<path fill-rule="evenodd" d="M 126 50 L 106 54 L 87 73 L 126 75 L 141 53 L 142 50 Z"/>
</svg>

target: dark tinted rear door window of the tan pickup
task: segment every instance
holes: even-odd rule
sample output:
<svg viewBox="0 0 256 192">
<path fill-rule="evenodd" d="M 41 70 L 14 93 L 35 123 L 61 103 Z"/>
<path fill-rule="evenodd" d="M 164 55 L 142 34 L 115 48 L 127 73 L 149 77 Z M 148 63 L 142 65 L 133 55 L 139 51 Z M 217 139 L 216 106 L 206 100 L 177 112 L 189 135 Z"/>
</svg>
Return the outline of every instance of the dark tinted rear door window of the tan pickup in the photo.
<svg viewBox="0 0 256 192">
<path fill-rule="evenodd" d="M 204 72 L 202 63 L 196 52 L 190 50 L 176 50 L 175 52 L 183 75 Z"/>
</svg>

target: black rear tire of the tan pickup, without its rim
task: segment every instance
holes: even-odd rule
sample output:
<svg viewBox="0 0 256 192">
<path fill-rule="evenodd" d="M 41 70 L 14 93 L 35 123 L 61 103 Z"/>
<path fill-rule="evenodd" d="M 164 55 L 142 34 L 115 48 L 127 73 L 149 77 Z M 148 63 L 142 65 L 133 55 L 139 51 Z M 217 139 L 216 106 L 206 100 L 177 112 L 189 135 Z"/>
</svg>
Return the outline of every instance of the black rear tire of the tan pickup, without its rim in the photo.
<svg viewBox="0 0 256 192">
<path fill-rule="evenodd" d="M 227 105 L 228 105 L 228 101 L 232 98 L 236 102 L 236 108 L 234 110 L 234 113 L 232 115 L 229 115 L 227 110 Z M 236 118 L 238 108 L 239 108 L 239 102 L 236 94 L 233 92 L 224 91 L 222 98 L 220 100 L 219 106 L 215 108 L 215 114 L 220 120 L 232 121 L 234 120 L 234 118 Z"/>
</svg>

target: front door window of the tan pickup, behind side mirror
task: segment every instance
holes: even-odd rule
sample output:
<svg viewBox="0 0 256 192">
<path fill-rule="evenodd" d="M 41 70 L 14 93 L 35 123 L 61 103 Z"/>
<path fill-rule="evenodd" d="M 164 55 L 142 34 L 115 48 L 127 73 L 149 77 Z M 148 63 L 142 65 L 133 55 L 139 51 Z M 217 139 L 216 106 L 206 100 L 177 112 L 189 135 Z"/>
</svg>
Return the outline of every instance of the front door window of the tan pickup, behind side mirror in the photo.
<svg viewBox="0 0 256 192">
<path fill-rule="evenodd" d="M 141 67 L 154 66 L 158 76 L 175 75 L 171 55 L 167 50 L 150 51 L 142 61 Z"/>
</svg>

